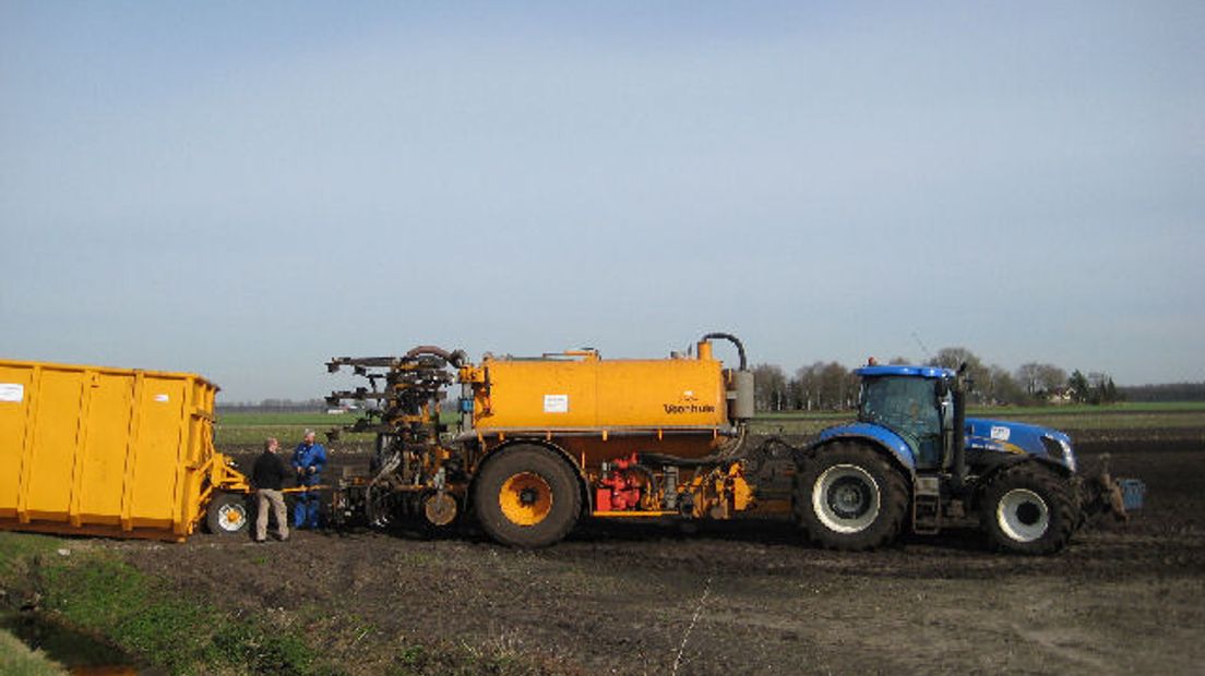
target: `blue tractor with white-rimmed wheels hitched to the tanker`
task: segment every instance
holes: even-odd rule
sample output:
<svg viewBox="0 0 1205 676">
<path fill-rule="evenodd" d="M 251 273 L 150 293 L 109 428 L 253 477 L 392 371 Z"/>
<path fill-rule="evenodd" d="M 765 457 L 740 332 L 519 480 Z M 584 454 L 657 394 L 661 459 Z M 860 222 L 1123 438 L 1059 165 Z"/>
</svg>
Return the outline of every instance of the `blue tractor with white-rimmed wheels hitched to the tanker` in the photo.
<svg viewBox="0 0 1205 676">
<path fill-rule="evenodd" d="M 1062 550 L 1088 515 L 1124 516 L 1142 485 L 1076 473 L 1070 438 L 1056 429 L 965 416 L 965 366 L 866 366 L 858 420 L 831 427 L 799 457 L 793 511 L 831 548 L 866 550 L 905 529 L 939 532 L 978 518 L 997 548 Z"/>
</svg>

